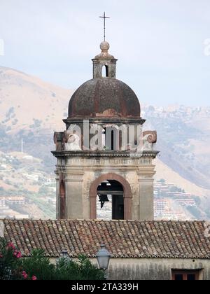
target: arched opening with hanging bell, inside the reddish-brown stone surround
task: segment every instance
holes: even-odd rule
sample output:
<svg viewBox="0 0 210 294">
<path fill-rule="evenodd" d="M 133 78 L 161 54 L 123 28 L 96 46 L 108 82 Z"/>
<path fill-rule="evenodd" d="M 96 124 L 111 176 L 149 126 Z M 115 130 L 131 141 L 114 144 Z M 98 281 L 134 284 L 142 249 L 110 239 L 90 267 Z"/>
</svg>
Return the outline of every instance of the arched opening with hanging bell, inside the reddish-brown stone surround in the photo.
<svg viewBox="0 0 210 294">
<path fill-rule="evenodd" d="M 124 219 L 124 190 L 115 180 L 103 181 L 97 187 L 97 218 Z"/>
</svg>

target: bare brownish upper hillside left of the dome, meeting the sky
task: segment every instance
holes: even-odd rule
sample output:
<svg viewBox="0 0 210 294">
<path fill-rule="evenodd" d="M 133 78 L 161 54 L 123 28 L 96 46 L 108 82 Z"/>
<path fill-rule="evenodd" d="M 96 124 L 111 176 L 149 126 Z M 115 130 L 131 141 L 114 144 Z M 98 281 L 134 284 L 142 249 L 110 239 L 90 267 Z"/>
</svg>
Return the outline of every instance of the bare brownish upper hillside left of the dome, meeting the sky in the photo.
<svg viewBox="0 0 210 294">
<path fill-rule="evenodd" d="M 64 130 L 71 90 L 44 83 L 14 69 L 0 67 L 0 149 L 21 151 L 52 168 L 53 132 Z"/>
</svg>

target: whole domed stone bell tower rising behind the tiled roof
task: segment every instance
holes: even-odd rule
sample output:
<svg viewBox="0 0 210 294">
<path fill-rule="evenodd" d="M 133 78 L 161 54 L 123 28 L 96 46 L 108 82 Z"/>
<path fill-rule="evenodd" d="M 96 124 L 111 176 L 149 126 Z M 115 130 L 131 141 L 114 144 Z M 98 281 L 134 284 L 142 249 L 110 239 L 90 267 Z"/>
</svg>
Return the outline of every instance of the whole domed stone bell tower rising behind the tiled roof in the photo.
<svg viewBox="0 0 210 294">
<path fill-rule="evenodd" d="M 113 219 L 152 221 L 157 134 L 143 131 L 139 99 L 116 79 L 109 43 L 100 48 L 92 80 L 70 99 L 66 130 L 54 135 L 57 218 L 95 219 L 109 195 Z"/>
</svg>

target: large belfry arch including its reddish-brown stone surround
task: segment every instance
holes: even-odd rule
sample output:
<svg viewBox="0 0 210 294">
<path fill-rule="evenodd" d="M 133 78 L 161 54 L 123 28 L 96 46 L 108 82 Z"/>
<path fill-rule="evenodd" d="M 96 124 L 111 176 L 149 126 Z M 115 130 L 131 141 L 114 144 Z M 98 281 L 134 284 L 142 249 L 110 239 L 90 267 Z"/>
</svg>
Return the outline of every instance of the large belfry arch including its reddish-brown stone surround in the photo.
<svg viewBox="0 0 210 294">
<path fill-rule="evenodd" d="M 130 184 L 125 178 L 123 178 L 123 176 L 114 173 L 103 174 L 92 182 L 90 186 L 91 219 L 97 218 L 97 202 L 99 202 L 98 194 L 108 195 L 108 200 L 111 200 L 111 217 L 113 216 L 114 218 L 119 219 L 122 218 L 124 214 L 122 219 L 132 220 L 132 190 Z M 111 195 L 113 195 L 113 197 Z M 110 205 L 110 201 L 105 204 Z"/>
</svg>

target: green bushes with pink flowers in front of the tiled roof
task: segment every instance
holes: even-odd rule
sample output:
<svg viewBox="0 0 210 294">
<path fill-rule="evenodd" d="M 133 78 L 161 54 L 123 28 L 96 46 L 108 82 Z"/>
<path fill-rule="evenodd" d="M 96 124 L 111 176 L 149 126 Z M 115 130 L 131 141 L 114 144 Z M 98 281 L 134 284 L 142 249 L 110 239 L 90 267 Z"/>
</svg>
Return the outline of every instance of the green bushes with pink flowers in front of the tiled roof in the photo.
<svg viewBox="0 0 210 294">
<path fill-rule="evenodd" d="M 85 255 L 78 261 L 59 258 L 52 264 L 42 249 L 22 258 L 13 244 L 0 239 L 0 280 L 104 280 L 104 271 L 92 265 Z"/>
</svg>

